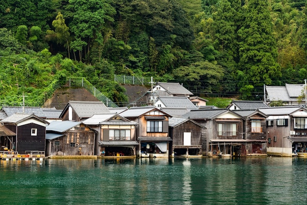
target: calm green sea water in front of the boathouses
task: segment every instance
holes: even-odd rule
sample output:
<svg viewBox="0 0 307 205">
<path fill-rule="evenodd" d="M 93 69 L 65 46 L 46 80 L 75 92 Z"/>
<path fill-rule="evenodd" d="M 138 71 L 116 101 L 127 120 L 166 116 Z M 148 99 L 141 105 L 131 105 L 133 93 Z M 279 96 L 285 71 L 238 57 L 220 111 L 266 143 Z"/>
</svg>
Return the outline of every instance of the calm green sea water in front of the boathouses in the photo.
<svg viewBox="0 0 307 205">
<path fill-rule="evenodd" d="M 307 160 L 1 160 L 0 204 L 303 205 Z"/>
</svg>

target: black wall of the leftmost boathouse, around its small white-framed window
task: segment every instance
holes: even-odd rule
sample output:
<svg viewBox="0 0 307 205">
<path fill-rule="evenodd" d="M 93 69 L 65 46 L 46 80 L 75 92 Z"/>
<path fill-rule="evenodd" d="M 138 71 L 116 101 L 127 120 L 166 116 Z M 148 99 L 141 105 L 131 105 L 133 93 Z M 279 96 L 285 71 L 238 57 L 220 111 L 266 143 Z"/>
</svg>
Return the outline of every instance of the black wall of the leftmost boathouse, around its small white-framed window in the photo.
<svg viewBox="0 0 307 205">
<path fill-rule="evenodd" d="M 36 128 L 36 136 L 31 136 L 31 129 Z M 46 127 L 29 123 L 17 127 L 16 151 L 24 154 L 26 150 L 45 150 Z"/>
</svg>

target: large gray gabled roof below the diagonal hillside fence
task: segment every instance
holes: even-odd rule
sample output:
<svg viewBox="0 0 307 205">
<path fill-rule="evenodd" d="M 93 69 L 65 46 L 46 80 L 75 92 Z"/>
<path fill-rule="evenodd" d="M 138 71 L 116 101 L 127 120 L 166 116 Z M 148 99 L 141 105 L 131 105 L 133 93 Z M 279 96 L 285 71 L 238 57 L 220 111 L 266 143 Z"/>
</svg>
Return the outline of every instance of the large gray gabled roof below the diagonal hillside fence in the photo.
<svg viewBox="0 0 307 205">
<path fill-rule="evenodd" d="M 92 117 L 96 113 L 109 113 L 110 111 L 102 102 L 95 101 L 69 101 L 63 112 L 65 112 L 68 107 L 71 106 L 72 109 L 77 113 L 78 117 Z M 60 115 L 60 117 L 63 115 Z"/>
</svg>

